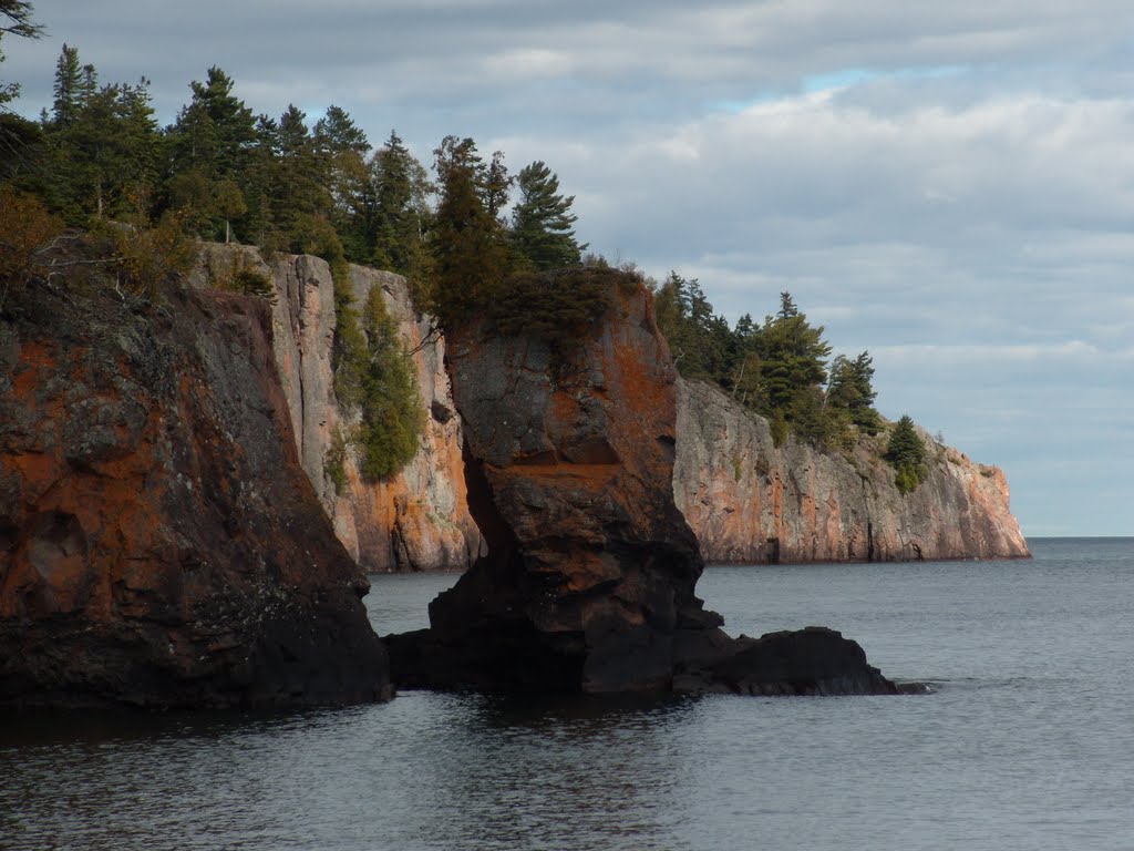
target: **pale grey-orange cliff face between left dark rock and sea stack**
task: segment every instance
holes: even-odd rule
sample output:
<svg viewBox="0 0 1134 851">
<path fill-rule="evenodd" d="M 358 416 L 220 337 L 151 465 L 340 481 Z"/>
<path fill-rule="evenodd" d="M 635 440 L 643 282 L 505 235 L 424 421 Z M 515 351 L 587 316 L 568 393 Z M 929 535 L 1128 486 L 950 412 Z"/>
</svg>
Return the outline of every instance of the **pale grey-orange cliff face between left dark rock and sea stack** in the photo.
<svg viewBox="0 0 1134 851">
<path fill-rule="evenodd" d="M 349 456 L 346 487 L 336 490 L 328 452 L 352 421 L 335 402 L 331 345 L 335 293 L 328 264 L 318 258 L 276 255 L 269 266 L 254 248 L 206 245 L 195 275 L 201 286 L 230 277 L 236 267 L 270 276 L 273 351 L 291 415 L 303 469 L 331 516 L 336 534 L 367 571 L 464 570 L 480 550 L 480 530 L 468 513 L 460 458 L 460 419 L 445 370 L 443 338 L 414 311 L 400 276 L 352 267 L 356 306 L 379 287 L 409 349 L 415 349 L 426 430 L 417 455 L 387 481 L 363 480 Z M 423 344 L 424 342 L 424 344 Z"/>
</svg>

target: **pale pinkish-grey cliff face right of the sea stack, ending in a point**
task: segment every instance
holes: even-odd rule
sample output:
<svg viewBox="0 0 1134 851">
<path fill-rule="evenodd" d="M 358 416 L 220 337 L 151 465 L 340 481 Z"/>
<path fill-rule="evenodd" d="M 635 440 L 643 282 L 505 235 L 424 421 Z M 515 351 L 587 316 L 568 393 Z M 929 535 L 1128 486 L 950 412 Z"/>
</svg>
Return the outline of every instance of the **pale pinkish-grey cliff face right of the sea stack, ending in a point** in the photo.
<svg viewBox="0 0 1134 851">
<path fill-rule="evenodd" d="M 849 457 L 794 440 L 700 381 L 678 381 L 674 494 L 710 562 L 1017 558 L 1029 555 L 997 467 L 923 435 L 930 475 L 912 494 L 860 445 Z"/>
</svg>

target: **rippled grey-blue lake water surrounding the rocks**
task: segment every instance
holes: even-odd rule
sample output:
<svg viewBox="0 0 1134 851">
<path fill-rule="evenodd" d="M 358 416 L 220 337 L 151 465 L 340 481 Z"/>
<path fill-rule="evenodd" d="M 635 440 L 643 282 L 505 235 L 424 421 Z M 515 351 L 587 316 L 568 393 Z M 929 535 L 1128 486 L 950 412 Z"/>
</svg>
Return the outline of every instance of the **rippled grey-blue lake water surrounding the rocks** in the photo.
<svg viewBox="0 0 1134 851">
<path fill-rule="evenodd" d="M 1134 539 L 1033 549 L 705 572 L 731 632 L 830 625 L 931 696 L 0 717 L 0 849 L 1132 849 Z M 375 576 L 380 631 L 454 579 Z"/>
</svg>

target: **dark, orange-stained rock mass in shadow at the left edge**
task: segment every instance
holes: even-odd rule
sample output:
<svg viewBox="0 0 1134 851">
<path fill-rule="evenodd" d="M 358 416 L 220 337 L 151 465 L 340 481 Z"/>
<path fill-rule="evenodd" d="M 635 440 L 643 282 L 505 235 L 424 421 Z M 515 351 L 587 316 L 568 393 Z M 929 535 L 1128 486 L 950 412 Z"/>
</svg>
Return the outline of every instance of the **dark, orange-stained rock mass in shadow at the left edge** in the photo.
<svg viewBox="0 0 1134 851">
<path fill-rule="evenodd" d="M 365 576 L 298 463 L 268 306 L 40 287 L 9 307 L 0 703 L 388 696 Z"/>
</svg>

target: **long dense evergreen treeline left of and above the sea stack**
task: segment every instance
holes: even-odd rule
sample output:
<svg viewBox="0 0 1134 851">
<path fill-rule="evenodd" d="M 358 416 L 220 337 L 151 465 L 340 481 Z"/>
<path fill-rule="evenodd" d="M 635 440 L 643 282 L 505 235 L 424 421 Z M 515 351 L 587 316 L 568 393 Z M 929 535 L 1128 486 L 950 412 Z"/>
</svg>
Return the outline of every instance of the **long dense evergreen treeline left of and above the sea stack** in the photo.
<svg viewBox="0 0 1134 851">
<path fill-rule="evenodd" d="M 203 239 L 389 269 L 415 281 L 423 306 L 438 306 L 434 290 L 449 288 L 456 267 L 475 293 L 508 271 L 581 262 L 574 199 L 543 162 L 513 176 L 501 152 L 485 161 L 472 140 L 450 136 L 433 152 L 434 182 L 397 132 L 375 149 L 340 107 L 314 120 L 294 104 L 254 113 L 213 67 L 160 127 L 149 85 L 103 84 L 65 44 L 50 109 L 37 123 L 5 117 L 20 144 L 0 180 L 71 226 L 176 217 Z"/>
</svg>

